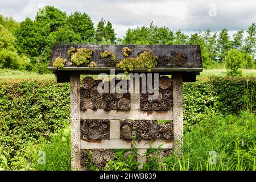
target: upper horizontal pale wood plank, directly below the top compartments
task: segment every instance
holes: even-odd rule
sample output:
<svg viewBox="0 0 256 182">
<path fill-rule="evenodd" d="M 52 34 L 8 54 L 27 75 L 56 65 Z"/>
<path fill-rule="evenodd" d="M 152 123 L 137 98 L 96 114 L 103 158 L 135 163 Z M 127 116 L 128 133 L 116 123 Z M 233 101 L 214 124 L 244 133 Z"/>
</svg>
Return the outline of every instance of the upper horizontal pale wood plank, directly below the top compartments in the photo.
<svg viewBox="0 0 256 182">
<path fill-rule="evenodd" d="M 81 110 L 82 119 L 162 119 L 172 120 L 172 111 Z"/>
</svg>

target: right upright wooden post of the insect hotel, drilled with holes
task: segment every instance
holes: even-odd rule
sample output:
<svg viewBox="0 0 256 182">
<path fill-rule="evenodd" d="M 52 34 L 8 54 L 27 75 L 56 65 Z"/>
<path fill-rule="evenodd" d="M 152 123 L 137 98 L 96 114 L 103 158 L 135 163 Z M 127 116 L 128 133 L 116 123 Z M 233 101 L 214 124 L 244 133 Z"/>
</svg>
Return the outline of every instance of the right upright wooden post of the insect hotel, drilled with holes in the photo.
<svg viewBox="0 0 256 182">
<path fill-rule="evenodd" d="M 172 75 L 172 88 L 174 96 L 174 149 L 176 154 L 182 154 L 183 142 L 183 78 L 181 73 Z"/>
</svg>

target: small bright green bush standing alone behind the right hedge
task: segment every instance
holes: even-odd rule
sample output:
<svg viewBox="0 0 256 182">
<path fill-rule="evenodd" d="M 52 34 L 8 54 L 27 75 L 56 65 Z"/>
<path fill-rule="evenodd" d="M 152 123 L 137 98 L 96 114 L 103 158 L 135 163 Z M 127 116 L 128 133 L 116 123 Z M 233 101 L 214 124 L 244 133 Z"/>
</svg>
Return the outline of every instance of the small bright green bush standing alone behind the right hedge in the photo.
<svg viewBox="0 0 256 182">
<path fill-rule="evenodd" d="M 243 60 L 244 56 L 237 49 L 230 49 L 225 59 L 229 76 L 242 75 L 240 68 L 242 67 Z"/>
</svg>

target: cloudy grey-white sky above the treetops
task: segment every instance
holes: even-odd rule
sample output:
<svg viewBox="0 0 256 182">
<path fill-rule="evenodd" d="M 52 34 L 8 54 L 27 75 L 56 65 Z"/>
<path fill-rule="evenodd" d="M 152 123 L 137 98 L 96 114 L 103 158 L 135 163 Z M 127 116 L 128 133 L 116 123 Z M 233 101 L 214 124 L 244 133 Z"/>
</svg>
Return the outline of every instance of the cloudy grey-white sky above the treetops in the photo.
<svg viewBox="0 0 256 182">
<path fill-rule="evenodd" d="M 255 0 L 0 0 L 0 14 L 18 21 L 34 19 L 43 5 L 55 6 L 67 14 L 85 12 L 95 24 L 103 17 L 112 22 L 118 37 L 124 36 L 128 28 L 149 26 L 151 21 L 187 34 L 207 28 L 217 32 L 228 28 L 232 34 L 256 22 Z"/>
</svg>

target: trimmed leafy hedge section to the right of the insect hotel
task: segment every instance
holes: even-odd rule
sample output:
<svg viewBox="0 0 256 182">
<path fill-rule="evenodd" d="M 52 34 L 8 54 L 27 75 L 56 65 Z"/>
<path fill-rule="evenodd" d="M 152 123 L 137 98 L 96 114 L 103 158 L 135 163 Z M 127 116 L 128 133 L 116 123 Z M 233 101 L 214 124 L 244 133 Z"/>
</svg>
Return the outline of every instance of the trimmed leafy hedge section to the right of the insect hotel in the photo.
<svg viewBox="0 0 256 182">
<path fill-rule="evenodd" d="M 201 78 L 196 82 L 184 83 L 183 93 L 184 127 L 189 130 L 207 117 L 209 110 L 224 115 L 240 114 L 241 110 L 246 109 L 248 98 L 256 97 L 256 80 L 254 77 Z M 255 112 L 256 102 L 253 99 L 250 108 Z"/>
</svg>

